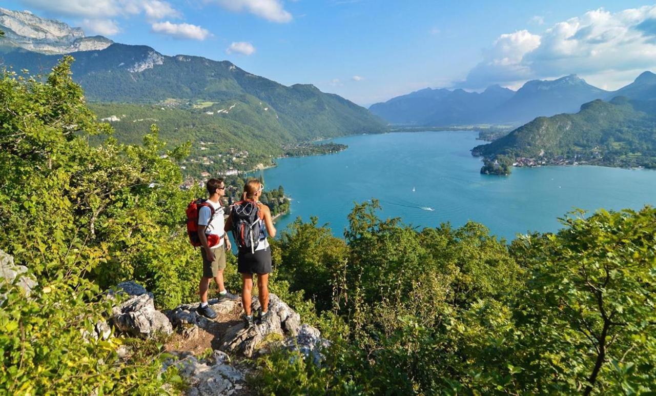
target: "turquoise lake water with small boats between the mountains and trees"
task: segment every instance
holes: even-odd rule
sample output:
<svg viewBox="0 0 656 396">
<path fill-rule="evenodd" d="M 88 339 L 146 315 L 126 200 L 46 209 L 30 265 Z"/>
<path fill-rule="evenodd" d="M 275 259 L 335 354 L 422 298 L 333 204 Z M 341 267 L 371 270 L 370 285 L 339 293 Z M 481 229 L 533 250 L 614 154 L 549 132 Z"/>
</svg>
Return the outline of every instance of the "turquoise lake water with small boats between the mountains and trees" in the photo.
<svg viewBox="0 0 656 396">
<path fill-rule="evenodd" d="M 284 158 L 265 169 L 267 188 L 292 198 L 286 227 L 297 216 L 318 216 L 342 236 L 354 202 L 380 200 L 380 217 L 436 227 L 468 220 L 506 239 L 527 231 L 557 231 L 573 208 L 594 211 L 656 206 L 656 171 L 597 166 L 514 168 L 509 177 L 481 175 L 469 150 L 482 141 L 472 131 L 387 133 L 335 139 L 348 150 Z M 415 189 L 413 191 L 413 188 Z M 433 209 L 433 210 L 430 210 Z"/>
</svg>

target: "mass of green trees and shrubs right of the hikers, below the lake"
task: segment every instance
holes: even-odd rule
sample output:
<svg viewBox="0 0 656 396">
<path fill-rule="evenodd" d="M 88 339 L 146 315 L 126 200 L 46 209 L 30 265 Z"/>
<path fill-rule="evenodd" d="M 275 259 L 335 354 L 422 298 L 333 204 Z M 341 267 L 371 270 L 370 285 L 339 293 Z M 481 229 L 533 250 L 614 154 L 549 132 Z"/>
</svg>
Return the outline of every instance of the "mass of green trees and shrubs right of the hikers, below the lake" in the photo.
<svg viewBox="0 0 656 396">
<path fill-rule="evenodd" d="M 316 298 L 333 343 L 319 365 L 263 357 L 263 393 L 654 391 L 656 209 L 507 246 L 477 223 L 417 231 L 377 208 L 356 205 L 346 246 L 316 220 L 281 238 L 278 272 Z"/>
</svg>

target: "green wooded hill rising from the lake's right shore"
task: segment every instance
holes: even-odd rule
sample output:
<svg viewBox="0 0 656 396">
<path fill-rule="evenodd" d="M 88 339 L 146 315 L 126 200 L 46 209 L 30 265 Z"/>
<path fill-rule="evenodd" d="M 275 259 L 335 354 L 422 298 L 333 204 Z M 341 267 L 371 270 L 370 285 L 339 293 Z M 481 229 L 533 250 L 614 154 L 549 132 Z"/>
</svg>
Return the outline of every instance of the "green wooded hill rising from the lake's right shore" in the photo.
<svg viewBox="0 0 656 396">
<path fill-rule="evenodd" d="M 656 102 L 615 97 L 594 100 L 577 114 L 539 117 L 474 155 L 581 158 L 592 164 L 656 167 Z"/>
</svg>

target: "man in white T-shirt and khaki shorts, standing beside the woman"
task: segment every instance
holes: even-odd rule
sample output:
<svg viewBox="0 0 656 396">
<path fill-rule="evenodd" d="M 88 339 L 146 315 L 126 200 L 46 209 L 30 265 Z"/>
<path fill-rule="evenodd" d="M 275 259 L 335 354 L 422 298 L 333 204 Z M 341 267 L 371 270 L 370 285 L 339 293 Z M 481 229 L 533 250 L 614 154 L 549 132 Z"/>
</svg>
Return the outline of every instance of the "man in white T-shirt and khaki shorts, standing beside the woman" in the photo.
<svg viewBox="0 0 656 396">
<path fill-rule="evenodd" d="M 216 313 L 207 304 L 207 290 L 209 290 L 212 279 L 218 286 L 219 300 L 237 300 L 239 297 L 228 293 L 223 284 L 223 270 L 226 269 L 226 249 L 230 250 L 230 239 L 228 239 L 228 234 L 224 232 L 224 211 L 221 202 L 221 198 L 226 192 L 226 185 L 223 179 L 209 179 L 205 187 L 207 187 L 207 193 L 209 194 L 206 203 L 212 206 L 214 215 L 212 215 L 212 210 L 207 205 L 201 206 L 198 211 L 198 237 L 202 245 L 203 277 L 199 287 L 201 305 L 196 311 L 204 317 L 214 319 Z M 207 235 L 211 234 L 218 236 L 218 243 L 215 246 L 209 246 L 207 242 Z"/>
</svg>

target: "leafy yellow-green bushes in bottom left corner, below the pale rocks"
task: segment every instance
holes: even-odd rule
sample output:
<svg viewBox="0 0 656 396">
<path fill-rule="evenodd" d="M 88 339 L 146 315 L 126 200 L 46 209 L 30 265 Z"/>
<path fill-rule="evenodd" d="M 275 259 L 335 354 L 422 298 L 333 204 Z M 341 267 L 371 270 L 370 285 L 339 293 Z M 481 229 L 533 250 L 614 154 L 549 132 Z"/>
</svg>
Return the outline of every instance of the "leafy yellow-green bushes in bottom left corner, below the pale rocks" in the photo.
<svg viewBox="0 0 656 396">
<path fill-rule="evenodd" d="M 164 384 L 182 385 L 174 370 L 161 372 L 161 345 L 121 359 L 120 345 L 131 341 L 134 350 L 147 351 L 148 342 L 89 335 L 112 305 L 100 299 L 97 285 L 68 275 L 39 286 L 34 297 L 16 286 L 1 289 L 7 301 L 0 309 L 0 393 L 161 395 L 177 393 Z"/>
</svg>

